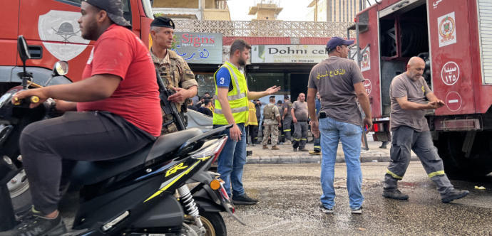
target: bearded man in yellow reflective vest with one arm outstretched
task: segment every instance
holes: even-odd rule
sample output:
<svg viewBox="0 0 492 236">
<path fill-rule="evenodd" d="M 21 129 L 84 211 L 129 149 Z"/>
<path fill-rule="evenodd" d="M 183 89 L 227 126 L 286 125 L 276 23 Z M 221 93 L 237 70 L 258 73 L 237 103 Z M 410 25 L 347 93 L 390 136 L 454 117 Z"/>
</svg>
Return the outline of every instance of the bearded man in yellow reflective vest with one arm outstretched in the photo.
<svg viewBox="0 0 492 236">
<path fill-rule="evenodd" d="M 247 89 L 246 78 L 240 68 L 246 65 L 250 58 L 251 45 L 243 39 L 236 39 L 230 46 L 230 59 L 225 62 L 214 75 L 215 112 L 214 128 L 234 124 L 232 128 L 222 132 L 229 136 L 217 160 L 217 172 L 225 181 L 224 187 L 231 195 L 235 205 L 252 205 L 257 199 L 250 198 L 242 187 L 242 168 L 246 163 L 246 131 L 245 123 L 248 117 L 248 100 L 259 99 L 272 95 L 280 87 L 270 87 L 263 92 L 250 92 Z"/>
</svg>

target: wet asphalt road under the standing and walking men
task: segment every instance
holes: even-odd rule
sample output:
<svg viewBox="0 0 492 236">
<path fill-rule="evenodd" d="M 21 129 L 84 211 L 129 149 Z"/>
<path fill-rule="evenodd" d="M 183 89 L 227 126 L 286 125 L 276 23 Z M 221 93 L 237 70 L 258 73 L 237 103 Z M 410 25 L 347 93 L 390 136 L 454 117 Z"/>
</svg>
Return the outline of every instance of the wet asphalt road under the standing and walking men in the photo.
<svg viewBox="0 0 492 236">
<path fill-rule="evenodd" d="M 246 192 L 260 203 L 237 206 L 236 214 L 247 226 L 223 215 L 228 235 L 492 235 L 491 176 L 451 180 L 470 194 L 445 204 L 421 163 L 414 161 L 399 181 L 409 200 L 393 200 L 381 196 L 387 165 L 362 163 L 362 215 L 350 213 L 347 188 L 337 189 L 334 214 L 318 210 L 319 164 L 246 165 Z M 343 186 L 346 177 L 345 164 L 337 163 L 335 181 Z"/>
</svg>

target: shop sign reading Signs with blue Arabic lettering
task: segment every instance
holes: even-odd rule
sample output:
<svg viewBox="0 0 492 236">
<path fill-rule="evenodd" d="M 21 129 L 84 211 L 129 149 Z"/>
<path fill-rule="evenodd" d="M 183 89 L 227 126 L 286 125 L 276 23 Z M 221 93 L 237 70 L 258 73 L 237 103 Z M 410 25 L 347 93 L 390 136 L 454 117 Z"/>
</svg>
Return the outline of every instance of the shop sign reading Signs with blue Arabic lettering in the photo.
<svg viewBox="0 0 492 236">
<path fill-rule="evenodd" d="M 175 52 L 187 63 L 222 64 L 222 33 L 176 32 Z"/>
</svg>

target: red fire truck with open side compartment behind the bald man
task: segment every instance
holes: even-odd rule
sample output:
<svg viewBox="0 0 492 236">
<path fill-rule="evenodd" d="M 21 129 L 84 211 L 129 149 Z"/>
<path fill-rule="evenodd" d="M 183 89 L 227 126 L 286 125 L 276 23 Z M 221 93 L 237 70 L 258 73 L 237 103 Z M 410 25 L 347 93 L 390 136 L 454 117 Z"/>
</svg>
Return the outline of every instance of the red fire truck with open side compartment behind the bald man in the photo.
<svg viewBox="0 0 492 236">
<path fill-rule="evenodd" d="M 381 0 L 357 14 L 357 57 L 374 118 L 389 117 L 389 86 L 413 56 L 447 106 L 427 112 L 446 173 L 492 171 L 492 1 Z M 357 50 L 356 50 L 357 51 Z M 376 121 L 374 139 L 391 140 Z"/>
</svg>

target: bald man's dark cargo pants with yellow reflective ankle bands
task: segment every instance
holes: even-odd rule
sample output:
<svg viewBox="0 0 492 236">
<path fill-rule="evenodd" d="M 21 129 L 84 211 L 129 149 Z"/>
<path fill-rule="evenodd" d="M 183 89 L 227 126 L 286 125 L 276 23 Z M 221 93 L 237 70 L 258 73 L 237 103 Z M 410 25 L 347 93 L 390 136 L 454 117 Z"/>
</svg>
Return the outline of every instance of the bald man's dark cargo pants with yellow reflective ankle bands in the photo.
<svg viewBox="0 0 492 236">
<path fill-rule="evenodd" d="M 403 179 L 409 167 L 411 151 L 419 156 L 429 178 L 436 183 L 437 191 L 444 195 L 454 188 L 444 173 L 443 161 L 431 139 L 431 132 L 416 132 L 411 127 L 398 127 L 392 136 L 391 161 L 384 176 L 384 189 L 398 188 L 397 181 Z"/>
</svg>

